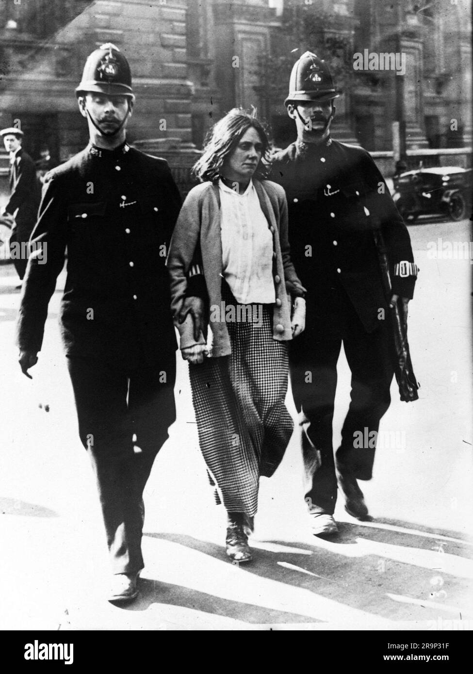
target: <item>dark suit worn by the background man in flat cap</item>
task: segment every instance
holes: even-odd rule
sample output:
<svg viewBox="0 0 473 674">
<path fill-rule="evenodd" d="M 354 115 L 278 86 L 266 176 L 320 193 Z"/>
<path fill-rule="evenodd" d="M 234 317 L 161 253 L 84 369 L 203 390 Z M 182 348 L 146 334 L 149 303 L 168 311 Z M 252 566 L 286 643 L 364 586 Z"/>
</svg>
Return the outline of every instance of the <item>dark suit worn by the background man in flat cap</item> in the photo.
<svg viewBox="0 0 473 674">
<path fill-rule="evenodd" d="M 5 213 L 15 217 L 11 230 L 10 244 L 27 243 L 36 223 L 40 202 L 40 187 L 36 178 L 36 167 L 29 154 L 22 148 L 16 152 L 9 167 L 10 198 Z M 23 280 L 26 271 L 26 257 L 13 257 L 16 273 Z"/>
</svg>

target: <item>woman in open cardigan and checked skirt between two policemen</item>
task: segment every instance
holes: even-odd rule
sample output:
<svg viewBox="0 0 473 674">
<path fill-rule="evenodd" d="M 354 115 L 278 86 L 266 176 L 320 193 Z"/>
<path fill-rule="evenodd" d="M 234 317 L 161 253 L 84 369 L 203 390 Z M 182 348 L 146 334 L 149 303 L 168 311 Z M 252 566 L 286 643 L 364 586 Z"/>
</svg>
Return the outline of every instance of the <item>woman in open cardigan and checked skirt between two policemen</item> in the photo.
<svg viewBox="0 0 473 674">
<path fill-rule="evenodd" d="M 305 323 L 285 194 L 265 180 L 268 150 L 261 123 L 242 109 L 213 127 L 167 262 L 200 449 L 227 510 L 227 555 L 238 562 L 252 558 L 260 475 L 273 474 L 293 430 L 286 342 Z M 196 262 L 203 277 L 192 276 Z"/>
</svg>

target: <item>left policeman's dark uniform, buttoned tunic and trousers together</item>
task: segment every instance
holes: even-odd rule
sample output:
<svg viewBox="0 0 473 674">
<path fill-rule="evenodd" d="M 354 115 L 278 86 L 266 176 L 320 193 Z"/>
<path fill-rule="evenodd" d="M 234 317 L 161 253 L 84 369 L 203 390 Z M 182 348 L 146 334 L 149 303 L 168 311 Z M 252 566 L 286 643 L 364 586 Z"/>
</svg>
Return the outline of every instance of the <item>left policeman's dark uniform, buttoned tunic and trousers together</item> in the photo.
<svg viewBox="0 0 473 674">
<path fill-rule="evenodd" d="M 165 259 L 180 204 L 165 160 L 89 145 L 47 174 L 32 233 L 47 263 L 28 264 L 18 344 L 40 350 L 67 247 L 61 333 L 116 574 L 143 568 L 142 492 L 175 421 Z"/>
</svg>

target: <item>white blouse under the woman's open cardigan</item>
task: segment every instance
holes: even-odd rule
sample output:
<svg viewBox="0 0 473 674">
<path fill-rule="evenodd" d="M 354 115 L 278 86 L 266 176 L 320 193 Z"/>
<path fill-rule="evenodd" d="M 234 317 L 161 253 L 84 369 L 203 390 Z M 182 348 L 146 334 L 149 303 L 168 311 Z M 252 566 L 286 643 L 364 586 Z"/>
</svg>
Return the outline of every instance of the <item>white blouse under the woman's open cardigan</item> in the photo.
<svg viewBox="0 0 473 674">
<path fill-rule="evenodd" d="M 273 235 L 252 181 L 243 194 L 219 180 L 223 276 L 240 304 L 272 304 Z"/>
</svg>

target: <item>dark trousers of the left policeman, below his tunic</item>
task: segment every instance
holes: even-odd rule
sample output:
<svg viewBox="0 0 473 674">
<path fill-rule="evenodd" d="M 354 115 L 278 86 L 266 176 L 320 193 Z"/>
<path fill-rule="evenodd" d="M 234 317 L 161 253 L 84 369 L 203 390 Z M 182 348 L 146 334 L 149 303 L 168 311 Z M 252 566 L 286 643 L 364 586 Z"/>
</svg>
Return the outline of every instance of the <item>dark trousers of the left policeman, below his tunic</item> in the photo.
<svg viewBox="0 0 473 674">
<path fill-rule="evenodd" d="M 175 421 L 175 356 L 163 359 L 162 368 L 129 373 L 76 357 L 68 357 L 67 366 L 80 439 L 99 489 L 113 573 L 134 574 L 144 567 L 143 490 Z"/>
</svg>

